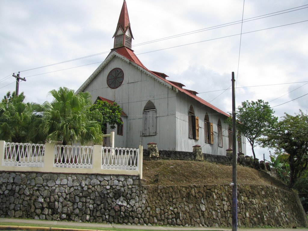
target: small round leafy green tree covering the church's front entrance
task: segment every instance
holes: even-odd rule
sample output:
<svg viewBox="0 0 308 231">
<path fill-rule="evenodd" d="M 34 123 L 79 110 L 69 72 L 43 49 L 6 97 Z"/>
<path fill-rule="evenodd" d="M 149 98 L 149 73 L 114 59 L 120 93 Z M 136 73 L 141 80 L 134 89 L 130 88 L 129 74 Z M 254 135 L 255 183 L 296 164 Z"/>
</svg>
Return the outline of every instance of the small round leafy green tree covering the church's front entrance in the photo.
<svg viewBox="0 0 308 231">
<path fill-rule="evenodd" d="M 101 120 L 99 120 L 102 129 L 105 129 L 105 124 L 109 124 L 111 129 L 115 128 L 115 125 L 120 125 L 122 108 L 117 103 L 108 103 L 106 101 L 98 100 L 90 108 L 91 111 L 99 110 L 102 114 Z"/>
</svg>

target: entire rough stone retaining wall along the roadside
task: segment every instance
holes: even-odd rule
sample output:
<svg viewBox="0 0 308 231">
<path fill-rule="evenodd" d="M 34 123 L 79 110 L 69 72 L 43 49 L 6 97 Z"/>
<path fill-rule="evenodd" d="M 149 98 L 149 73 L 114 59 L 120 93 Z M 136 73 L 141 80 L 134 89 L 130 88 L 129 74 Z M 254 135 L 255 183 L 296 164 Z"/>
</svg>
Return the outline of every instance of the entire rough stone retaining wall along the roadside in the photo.
<svg viewBox="0 0 308 231">
<path fill-rule="evenodd" d="M 146 186 L 138 176 L 0 172 L 0 217 L 231 226 L 229 185 Z M 307 226 L 295 193 L 239 185 L 239 227 Z"/>
</svg>

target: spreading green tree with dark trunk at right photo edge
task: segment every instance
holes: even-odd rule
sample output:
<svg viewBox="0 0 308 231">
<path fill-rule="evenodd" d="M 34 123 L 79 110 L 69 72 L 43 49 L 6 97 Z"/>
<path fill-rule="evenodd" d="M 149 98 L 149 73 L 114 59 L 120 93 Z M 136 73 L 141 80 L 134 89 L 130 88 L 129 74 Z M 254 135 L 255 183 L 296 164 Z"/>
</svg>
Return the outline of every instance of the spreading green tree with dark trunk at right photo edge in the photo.
<svg viewBox="0 0 308 231">
<path fill-rule="evenodd" d="M 289 187 L 308 167 L 308 116 L 301 110 L 295 115 L 285 113 L 266 137 L 260 139 L 264 147 L 274 148 L 277 153 L 288 153 L 290 165 Z"/>
</svg>

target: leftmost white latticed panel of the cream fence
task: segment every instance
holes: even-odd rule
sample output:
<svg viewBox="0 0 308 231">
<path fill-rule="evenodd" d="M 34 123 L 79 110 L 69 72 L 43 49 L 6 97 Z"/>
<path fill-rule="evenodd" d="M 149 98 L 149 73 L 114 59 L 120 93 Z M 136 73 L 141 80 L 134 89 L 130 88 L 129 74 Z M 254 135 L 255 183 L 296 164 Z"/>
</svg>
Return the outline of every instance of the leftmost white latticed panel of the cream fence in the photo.
<svg viewBox="0 0 308 231">
<path fill-rule="evenodd" d="M 2 164 L 4 166 L 44 166 L 44 144 L 5 143 Z"/>
</svg>

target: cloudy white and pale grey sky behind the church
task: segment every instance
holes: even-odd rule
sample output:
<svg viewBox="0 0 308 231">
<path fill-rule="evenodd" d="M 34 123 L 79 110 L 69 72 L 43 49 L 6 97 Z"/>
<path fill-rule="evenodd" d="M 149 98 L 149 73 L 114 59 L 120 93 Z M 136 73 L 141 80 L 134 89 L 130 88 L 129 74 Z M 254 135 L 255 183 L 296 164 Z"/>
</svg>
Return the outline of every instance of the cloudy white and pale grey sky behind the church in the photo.
<svg viewBox="0 0 308 231">
<path fill-rule="evenodd" d="M 18 71 L 26 77 L 19 92 L 29 102 L 52 100 L 48 91 L 59 87 L 77 90 L 113 48 L 122 4 L 1 0 L 1 98 L 15 90 Z M 132 49 L 148 69 L 226 112 L 232 71 L 237 106 L 263 99 L 279 117 L 307 112 L 308 0 L 127 0 L 127 6 Z M 268 158 L 267 149 L 255 151 Z"/>
</svg>

